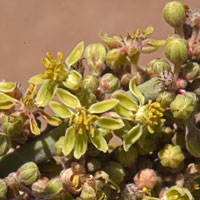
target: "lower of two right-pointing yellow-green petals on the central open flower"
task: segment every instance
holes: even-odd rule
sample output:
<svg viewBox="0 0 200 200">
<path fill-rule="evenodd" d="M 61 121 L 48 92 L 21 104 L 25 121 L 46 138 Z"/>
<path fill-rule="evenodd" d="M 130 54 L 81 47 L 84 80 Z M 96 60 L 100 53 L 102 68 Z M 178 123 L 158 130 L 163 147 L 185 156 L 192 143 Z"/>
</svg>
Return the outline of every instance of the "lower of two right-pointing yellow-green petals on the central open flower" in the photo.
<svg viewBox="0 0 200 200">
<path fill-rule="evenodd" d="M 122 120 L 112 119 L 109 117 L 101 117 L 97 120 L 97 125 L 101 128 L 109 130 L 117 130 L 124 126 Z"/>
</svg>

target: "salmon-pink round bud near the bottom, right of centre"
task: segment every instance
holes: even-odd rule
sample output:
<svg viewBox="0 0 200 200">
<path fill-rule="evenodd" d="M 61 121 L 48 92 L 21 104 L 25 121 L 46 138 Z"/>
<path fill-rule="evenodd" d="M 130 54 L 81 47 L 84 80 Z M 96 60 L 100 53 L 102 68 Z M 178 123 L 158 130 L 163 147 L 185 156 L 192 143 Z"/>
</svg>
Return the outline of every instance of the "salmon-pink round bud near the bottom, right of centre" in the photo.
<svg viewBox="0 0 200 200">
<path fill-rule="evenodd" d="M 140 190 L 143 188 L 152 190 L 157 179 L 158 177 L 153 169 L 142 169 L 135 175 L 134 182 Z"/>
</svg>

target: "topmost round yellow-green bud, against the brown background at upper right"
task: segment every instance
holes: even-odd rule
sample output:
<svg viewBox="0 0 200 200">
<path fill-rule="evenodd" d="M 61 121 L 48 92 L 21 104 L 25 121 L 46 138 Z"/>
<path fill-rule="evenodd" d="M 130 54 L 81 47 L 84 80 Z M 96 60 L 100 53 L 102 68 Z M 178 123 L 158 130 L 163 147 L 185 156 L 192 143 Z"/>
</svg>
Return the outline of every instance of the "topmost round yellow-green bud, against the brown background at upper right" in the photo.
<svg viewBox="0 0 200 200">
<path fill-rule="evenodd" d="M 183 25 L 185 20 L 185 8 L 183 3 L 178 1 L 168 2 L 163 9 L 163 17 L 172 27 Z"/>
</svg>

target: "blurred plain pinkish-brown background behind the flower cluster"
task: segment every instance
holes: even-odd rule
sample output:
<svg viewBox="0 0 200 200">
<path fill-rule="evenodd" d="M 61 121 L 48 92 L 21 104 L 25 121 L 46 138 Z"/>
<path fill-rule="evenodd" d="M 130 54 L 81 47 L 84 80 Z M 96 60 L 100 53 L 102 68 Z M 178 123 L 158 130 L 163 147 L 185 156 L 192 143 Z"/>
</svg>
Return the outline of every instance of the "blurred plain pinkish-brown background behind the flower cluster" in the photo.
<svg viewBox="0 0 200 200">
<path fill-rule="evenodd" d="M 167 0 L 0 0 L 0 80 L 27 86 L 43 71 L 47 51 L 65 57 L 80 41 L 100 42 L 99 33 L 125 35 L 154 27 L 153 39 L 166 39 L 172 28 L 162 17 Z M 191 8 L 199 0 L 184 0 Z M 140 64 L 162 57 L 163 49 L 143 55 Z"/>
</svg>

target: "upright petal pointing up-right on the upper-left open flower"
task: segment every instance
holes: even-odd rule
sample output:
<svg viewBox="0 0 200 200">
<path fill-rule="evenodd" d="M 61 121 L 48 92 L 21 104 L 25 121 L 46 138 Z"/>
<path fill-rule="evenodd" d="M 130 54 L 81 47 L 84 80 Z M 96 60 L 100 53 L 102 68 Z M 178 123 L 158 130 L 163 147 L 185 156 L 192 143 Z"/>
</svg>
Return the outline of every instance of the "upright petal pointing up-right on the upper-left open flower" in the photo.
<svg viewBox="0 0 200 200">
<path fill-rule="evenodd" d="M 68 69 L 70 69 L 70 67 L 80 59 L 83 54 L 83 50 L 84 42 L 80 42 L 75 46 L 65 61 Z"/>
</svg>

